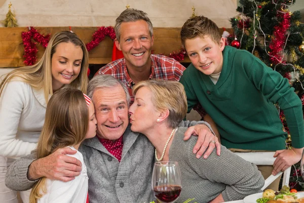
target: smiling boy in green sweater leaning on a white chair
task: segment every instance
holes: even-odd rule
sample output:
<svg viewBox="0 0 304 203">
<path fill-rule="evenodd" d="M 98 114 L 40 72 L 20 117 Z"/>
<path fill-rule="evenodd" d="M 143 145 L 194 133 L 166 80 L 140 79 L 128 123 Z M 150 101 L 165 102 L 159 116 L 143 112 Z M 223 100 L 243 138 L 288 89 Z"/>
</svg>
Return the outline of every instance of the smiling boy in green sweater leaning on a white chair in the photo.
<svg viewBox="0 0 304 203">
<path fill-rule="evenodd" d="M 264 178 L 285 171 L 301 159 L 304 122 L 301 100 L 278 72 L 246 50 L 225 47 L 217 25 L 204 16 L 188 19 L 181 42 L 192 64 L 184 71 L 188 112 L 198 103 L 218 127 L 221 144 L 235 151 L 276 151 Z M 292 137 L 286 149 L 278 103 Z M 278 187 L 278 182 L 275 183 Z"/>
</svg>

